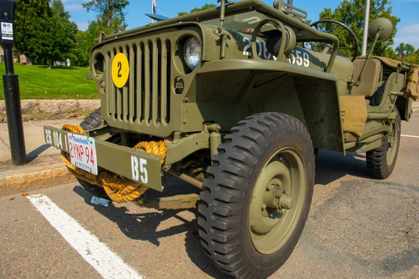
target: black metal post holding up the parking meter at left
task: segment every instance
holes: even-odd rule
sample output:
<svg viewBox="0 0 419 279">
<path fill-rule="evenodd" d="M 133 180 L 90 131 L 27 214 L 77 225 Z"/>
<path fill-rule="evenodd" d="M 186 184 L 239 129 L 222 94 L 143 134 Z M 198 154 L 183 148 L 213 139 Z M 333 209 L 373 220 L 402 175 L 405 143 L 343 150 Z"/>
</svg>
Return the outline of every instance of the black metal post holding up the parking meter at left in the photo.
<svg viewBox="0 0 419 279">
<path fill-rule="evenodd" d="M 19 77 L 14 73 L 11 49 L 4 48 L 4 60 L 6 62 L 6 75 L 3 75 L 4 103 L 6 105 L 10 153 L 13 165 L 24 165 L 27 163 L 27 156 L 20 108 Z"/>
</svg>

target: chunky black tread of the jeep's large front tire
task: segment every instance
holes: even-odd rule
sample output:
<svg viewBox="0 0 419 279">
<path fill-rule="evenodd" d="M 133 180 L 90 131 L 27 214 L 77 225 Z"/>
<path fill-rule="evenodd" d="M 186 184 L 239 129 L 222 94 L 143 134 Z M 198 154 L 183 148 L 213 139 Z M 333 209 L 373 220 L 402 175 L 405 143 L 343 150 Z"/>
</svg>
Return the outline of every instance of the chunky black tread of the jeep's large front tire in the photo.
<svg viewBox="0 0 419 279">
<path fill-rule="evenodd" d="M 242 256 L 240 216 L 247 181 L 258 156 L 274 135 L 286 131 L 301 135 L 314 150 L 307 129 L 293 116 L 274 112 L 255 114 L 231 128 L 231 133 L 225 137 L 228 140 L 219 145 L 219 154 L 212 158 L 218 165 L 207 169 L 211 178 L 204 180 L 207 190 L 200 195 L 199 236 L 205 255 L 229 276 L 263 278 L 266 275 L 252 269 Z M 314 153 L 311 156 L 314 162 Z M 314 178 L 314 167 L 311 172 Z"/>
</svg>

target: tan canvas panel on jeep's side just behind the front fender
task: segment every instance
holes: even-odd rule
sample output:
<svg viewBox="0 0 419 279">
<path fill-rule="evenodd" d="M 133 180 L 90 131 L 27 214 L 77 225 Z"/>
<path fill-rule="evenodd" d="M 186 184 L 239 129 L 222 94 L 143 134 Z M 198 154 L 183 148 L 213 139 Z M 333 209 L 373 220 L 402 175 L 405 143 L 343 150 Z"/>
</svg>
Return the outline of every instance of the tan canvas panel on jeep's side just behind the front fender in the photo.
<svg viewBox="0 0 419 279">
<path fill-rule="evenodd" d="M 339 96 L 339 99 L 344 132 L 360 137 L 362 130 L 364 130 L 365 122 L 367 122 L 365 96 L 343 95 Z"/>
</svg>

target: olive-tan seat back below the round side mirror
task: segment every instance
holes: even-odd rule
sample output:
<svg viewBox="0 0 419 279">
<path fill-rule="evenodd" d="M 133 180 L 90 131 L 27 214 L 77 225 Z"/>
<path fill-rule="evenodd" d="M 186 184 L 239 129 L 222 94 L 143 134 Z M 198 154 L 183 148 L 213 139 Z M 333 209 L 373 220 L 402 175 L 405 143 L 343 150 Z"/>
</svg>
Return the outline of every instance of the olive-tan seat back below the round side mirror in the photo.
<svg viewBox="0 0 419 279">
<path fill-rule="evenodd" d="M 365 59 L 356 59 L 353 61 L 353 80 L 358 80 Z M 378 59 L 369 59 L 361 77 L 360 86 L 352 87 L 352 95 L 364 95 L 365 98 L 371 98 L 376 93 L 378 86 L 383 81 L 383 66 Z"/>
</svg>

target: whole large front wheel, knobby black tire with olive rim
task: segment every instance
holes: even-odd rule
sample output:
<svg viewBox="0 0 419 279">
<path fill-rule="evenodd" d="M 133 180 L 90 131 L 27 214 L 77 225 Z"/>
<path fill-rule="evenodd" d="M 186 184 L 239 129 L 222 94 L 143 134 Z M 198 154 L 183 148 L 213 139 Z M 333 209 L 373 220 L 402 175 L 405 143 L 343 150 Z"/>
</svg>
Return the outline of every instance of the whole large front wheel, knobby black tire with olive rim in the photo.
<svg viewBox="0 0 419 279">
<path fill-rule="evenodd" d="M 313 144 L 292 116 L 249 116 L 230 130 L 200 195 L 201 243 L 223 273 L 266 278 L 304 229 L 314 188 Z"/>
</svg>

